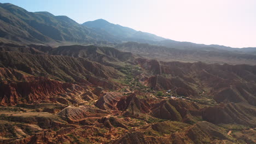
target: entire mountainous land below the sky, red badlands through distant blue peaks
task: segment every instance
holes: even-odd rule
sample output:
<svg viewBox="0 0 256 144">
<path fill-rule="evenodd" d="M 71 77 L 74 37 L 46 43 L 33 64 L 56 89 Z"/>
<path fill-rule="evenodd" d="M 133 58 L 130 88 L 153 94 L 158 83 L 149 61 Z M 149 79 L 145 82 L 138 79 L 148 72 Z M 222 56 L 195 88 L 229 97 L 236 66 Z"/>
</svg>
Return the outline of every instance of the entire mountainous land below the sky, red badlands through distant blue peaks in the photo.
<svg viewBox="0 0 256 144">
<path fill-rule="evenodd" d="M 255 48 L 0 4 L 0 143 L 256 143 Z"/>
</svg>

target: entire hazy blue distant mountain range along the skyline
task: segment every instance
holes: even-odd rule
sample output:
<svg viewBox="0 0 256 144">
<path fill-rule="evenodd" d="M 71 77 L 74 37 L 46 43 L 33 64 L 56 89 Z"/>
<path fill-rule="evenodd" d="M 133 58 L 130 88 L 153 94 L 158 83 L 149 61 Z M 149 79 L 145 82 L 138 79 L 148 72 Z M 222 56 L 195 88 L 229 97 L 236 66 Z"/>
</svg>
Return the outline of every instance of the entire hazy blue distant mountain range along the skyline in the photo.
<svg viewBox="0 0 256 144">
<path fill-rule="evenodd" d="M 31 13 L 10 3 L 0 3 L 0 41 L 16 44 L 120 44 L 128 41 L 160 45 L 175 49 L 237 51 L 256 54 L 256 47 L 234 49 L 220 45 L 203 45 L 174 41 L 157 35 L 114 25 L 106 20 L 80 25 L 67 16 L 46 11 Z"/>
</svg>

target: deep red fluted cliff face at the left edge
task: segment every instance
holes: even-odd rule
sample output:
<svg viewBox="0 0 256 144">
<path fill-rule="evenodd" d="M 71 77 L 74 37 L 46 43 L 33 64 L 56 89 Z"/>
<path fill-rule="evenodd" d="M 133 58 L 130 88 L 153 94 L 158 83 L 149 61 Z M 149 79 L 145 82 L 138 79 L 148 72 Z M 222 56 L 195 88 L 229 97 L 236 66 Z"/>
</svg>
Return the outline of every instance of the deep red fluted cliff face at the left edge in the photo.
<svg viewBox="0 0 256 144">
<path fill-rule="evenodd" d="M 30 81 L 25 82 L 2 82 L 0 85 L 1 105 L 49 101 L 53 100 L 52 97 L 63 97 L 61 94 L 64 93 L 74 95 L 85 90 L 84 87 L 78 85 L 49 80 L 44 77 L 29 77 L 29 79 Z"/>
</svg>

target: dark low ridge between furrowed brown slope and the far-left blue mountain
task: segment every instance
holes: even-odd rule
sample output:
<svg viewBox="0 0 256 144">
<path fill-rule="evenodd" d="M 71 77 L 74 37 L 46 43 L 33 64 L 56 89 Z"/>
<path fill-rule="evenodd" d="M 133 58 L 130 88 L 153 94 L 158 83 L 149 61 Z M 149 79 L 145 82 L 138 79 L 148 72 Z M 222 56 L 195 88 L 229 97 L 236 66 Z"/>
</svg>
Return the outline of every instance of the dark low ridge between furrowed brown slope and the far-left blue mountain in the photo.
<svg viewBox="0 0 256 144">
<path fill-rule="evenodd" d="M 16 45 L 0 43 L 1 51 L 12 51 L 21 53 L 30 53 L 33 55 L 60 55 L 74 58 L 86 58 L 90 61 L 117 65 L 124 62 L 134 63 L 135 57 L 131 52 L 122 52 L 113 47 L 95 46 L 95 45 L 68 45 L 51 47 L 44 45 Z"/>
</svg>

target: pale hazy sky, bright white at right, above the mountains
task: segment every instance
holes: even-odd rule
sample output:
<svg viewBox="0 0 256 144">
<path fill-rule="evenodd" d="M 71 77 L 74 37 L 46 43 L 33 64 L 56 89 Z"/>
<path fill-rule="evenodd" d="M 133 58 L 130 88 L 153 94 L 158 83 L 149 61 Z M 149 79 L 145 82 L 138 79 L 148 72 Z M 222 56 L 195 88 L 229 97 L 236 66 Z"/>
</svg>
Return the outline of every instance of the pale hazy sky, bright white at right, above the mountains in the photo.
<svg viewBox="0 0 256 144">
<path fill-rule="evenodd" d="M 105 19 L 177 41 L 256 47 L 256 0 L 0 0 L 78 23 Z"/>
</svg>

